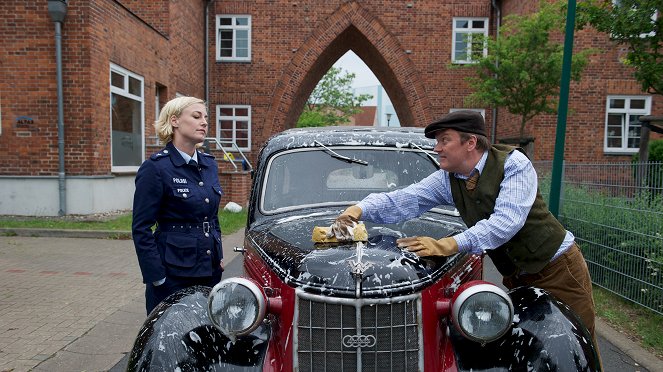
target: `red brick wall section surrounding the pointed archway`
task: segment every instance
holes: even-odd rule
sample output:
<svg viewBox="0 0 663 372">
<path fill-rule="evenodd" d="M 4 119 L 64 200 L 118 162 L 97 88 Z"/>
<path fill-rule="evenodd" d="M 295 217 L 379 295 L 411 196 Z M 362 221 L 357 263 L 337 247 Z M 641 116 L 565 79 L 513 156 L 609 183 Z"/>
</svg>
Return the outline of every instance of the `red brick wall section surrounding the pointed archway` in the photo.
<svg viewBox="0 0 663 372">
<path fill-rule="evenodd" d="M 294 126 L 319 79 L 348 49 L 380 79 L 401 125 L 425 126 L 463 107 L 467 72 L 450 66 L 450 17 L 488 17 L 490 1 L 309 4 L 236 0 L 211 7 L 210 35 L 216 14 L 252 17 L 250 63 L 216 62 L 214 37 L 209 48 L 210 104 L 251 105 L 253 161 L 270 135 Z"/>
</svg>

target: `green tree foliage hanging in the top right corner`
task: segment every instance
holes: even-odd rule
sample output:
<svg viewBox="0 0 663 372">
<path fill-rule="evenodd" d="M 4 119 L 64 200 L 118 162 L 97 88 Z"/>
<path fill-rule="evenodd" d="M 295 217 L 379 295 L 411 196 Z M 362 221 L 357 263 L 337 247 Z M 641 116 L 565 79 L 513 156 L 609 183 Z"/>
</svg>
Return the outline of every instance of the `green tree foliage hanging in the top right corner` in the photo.
<svg viewBox="0 0 663 372">
<path fill-rule="evenodd" d="M 628 46 L 624 64 L 632 66 L 644 92 L 663 94 L 663 0 L 586 0 L 578 4 L 578 24 L 590 24 Z"/>
</svg>

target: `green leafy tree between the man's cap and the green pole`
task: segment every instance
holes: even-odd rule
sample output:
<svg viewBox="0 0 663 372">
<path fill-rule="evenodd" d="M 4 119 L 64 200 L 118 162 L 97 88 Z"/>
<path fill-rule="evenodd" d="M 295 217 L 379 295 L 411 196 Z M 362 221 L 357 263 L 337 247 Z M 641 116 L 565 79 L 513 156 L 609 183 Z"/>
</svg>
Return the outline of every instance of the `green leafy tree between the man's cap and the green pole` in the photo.
<svg viewBox="0 0 663 372">
<path fill-rule="evenodd" d="M 467 79 L 474 89 L 468 104 L 504 107 L 520 116 L 521 144 L 529 120 L 540 113 L 557 113 L 564 45 L 562 38 L 551 36 L 564 29 L 566 12 L 560 3 L 543 1 L 536 13 L 505 17 L 500 34 L 484 40 L 488 54 L 469 65 L 476 76 Z M 591 52 L 574 53 L 574 81 L 580 80 Z"/>
</svg>

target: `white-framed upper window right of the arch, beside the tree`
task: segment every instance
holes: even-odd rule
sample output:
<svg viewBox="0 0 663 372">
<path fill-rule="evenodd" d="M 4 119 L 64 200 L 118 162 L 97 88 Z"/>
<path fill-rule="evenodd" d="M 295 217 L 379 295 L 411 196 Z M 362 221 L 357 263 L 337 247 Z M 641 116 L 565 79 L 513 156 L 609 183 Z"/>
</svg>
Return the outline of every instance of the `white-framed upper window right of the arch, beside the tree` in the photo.
<svg viewBox="0 0 663 372">
<path fill-rule="evenodd" d="M 482 37 L 478 37 L 482 35 Z M 474 63 L 488 54 L 488 18 L 454 18 L 451 61 Z"/>
</svg>

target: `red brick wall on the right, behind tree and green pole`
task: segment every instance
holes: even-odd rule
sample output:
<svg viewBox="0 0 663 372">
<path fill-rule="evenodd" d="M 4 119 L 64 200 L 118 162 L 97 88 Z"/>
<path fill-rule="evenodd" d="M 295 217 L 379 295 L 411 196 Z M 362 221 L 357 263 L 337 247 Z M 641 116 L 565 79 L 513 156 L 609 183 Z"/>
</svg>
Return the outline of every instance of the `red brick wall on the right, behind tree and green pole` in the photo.
<svg viewBox="0 0 663 372">
<path fill-rule="evenodd" d="M 503 14 L 522 13 L 536 9 L 533 3 L 521 0 L 503 1 Z M 561 40 L 561 37 L 560 37 Z M 563 42 L 563 41 L 561 41 Z M 606 99 L 608 95 L 646 95 L 633 78 L 633 70 L 620 59 L 625 54 L 623 46 L 612 42 L 606 34 L 585 29 L 574 33 L 574 53 L 583 49 L 595 49 L 590 64 L 584 70 L 580 82 L 571 82 L 569 108 L 566 123 L 564 155 L 569 162 L 622 162 L 631 155 L 611 155 L 603 152 Z M 652 115 L 663 115 L 663 99 L 652 96 Z M 498 113 L 497 137 L 513 137 L 518 134 L 520 118 L 505 109 Z M 526 126 L 526 135 L 536 138 L 534 159 L 552 160 L 555 150 L 557 115 L 540 115 Z M 663 138 L 652 133 L 651 139 Z"/>
</svg>

